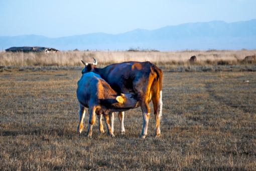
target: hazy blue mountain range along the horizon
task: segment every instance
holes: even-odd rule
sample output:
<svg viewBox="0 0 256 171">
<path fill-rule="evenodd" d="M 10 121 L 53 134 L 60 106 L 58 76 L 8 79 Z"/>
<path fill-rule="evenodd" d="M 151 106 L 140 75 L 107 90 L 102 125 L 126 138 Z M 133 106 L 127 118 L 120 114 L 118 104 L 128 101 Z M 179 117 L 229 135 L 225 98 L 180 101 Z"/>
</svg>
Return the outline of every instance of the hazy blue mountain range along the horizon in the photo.
<svg viewBox="0 0 256 171">
<path fill-rule="evenodd" d="M 154 30 L 135 29 L 118 34 L 97 32 L 58 38 L 34 34 L 0 36 L 1 48 L 11 46 L 45 46 L 61 50 L 256 49 L 256 19 L 231 23 L 194 22 Z"/>
</svg>

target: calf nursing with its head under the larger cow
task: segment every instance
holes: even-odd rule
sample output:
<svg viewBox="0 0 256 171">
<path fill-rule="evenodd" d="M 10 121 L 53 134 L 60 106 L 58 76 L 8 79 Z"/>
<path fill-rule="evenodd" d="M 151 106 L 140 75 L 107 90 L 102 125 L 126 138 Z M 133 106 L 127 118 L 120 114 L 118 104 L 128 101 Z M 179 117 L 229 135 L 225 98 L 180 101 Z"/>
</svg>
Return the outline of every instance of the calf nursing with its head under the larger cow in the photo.
<svg viewBox="0 0 256 171">
<path fill-rule="evenodd" d="M 95 122 L 95 115 L 97 114 L 100 120 L 103 114 L 108 134 L 114 136 L 111 126 L 109 124 L 109 112 L 124 111 L 138 106 L 137 100 L 131 94 L 117 94 L 110 85 L 100 77 L 100 75 L 88 72 L 83 73 L 80 80 L 77 82 L 77 99 L 80 103 L 79 125 L 77 132 L 81 133 L 83 128 L 83 118 L 85 114 L 85 107 L 89 108 L 89 126 L 87 136 L 92 135 L 92 125 Z M 99 123 L 99 129 L 104 132 L 102 123 Z"/>
</svg>

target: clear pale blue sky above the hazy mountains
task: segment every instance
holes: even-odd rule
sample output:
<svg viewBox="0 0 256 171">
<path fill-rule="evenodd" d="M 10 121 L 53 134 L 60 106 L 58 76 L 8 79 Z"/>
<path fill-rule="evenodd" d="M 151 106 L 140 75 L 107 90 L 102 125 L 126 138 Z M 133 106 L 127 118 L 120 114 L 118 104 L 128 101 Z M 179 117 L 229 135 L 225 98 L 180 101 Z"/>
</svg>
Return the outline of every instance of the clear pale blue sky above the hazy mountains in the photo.
<svg viewBox="0 0 256 171">
<path fill-rule="evenodd" d="M 256 0 L 0 0 L 0 35 L 120 33 L 256 18 Z"/>
</svg>

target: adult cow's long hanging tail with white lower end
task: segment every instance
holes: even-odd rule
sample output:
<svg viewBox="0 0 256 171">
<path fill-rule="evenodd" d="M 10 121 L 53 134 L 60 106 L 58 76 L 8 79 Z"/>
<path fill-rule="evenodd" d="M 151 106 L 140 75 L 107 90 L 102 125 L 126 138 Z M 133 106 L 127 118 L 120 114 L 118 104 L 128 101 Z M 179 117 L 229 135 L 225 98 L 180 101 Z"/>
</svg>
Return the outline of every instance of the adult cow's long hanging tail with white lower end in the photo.
<svg viewBox="0 0 256 171">
<path fill-rule="evenodd" d="M 154 71 L 157 73 L 157 80 L 159 83 L 159 99 L 158 99 L 158 115 L 162 118 L 162 108 L 163 108 L 163 101 L 162 101 L 162 84 L 163 84 L 163 71 L 162 69 L 158 68 L 157 66 L 154 67 Z"/>
</svg>

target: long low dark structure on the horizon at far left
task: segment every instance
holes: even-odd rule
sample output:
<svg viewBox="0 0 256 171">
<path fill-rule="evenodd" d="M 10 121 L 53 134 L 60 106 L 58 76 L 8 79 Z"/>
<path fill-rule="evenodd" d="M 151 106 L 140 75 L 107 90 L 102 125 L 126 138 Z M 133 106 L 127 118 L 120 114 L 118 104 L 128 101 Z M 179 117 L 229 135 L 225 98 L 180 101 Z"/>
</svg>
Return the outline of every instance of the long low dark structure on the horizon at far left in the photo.
<svg viewBox="0 0 256 171">
<path fill-rule="evenodd" d="M 8 52 L 50 52 L 50 51 L 59 51 L 55 48 L 49 48 L 49 47 L 39 47 L 39 46 L 22 46 L 22 47 L 10 47 L 7 48 L 6 51 Z"/>
</svg>

